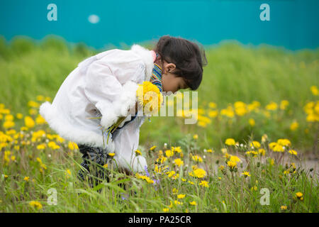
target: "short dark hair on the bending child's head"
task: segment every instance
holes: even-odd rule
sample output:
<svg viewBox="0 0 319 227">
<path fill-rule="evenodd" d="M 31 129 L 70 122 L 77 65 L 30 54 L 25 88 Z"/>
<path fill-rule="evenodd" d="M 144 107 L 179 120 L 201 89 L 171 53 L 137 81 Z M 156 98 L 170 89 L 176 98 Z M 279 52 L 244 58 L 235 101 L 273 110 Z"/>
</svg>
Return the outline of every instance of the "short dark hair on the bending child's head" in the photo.
<svg viewBox="0 0 319 227">
<path fill-rule="evenodd" d="M 199 48 L 197 43 L 184 38 L 164 35 L 159 38 L 153 50 L 162 60 L 176 65 L 172 73 L 177 74 L 177 77 L 183 77 L 191 90 L 198 89 L 203 79 L 203 66 L 208 64 L 202 47 Z M 162 61 L 162 69 L 163 65 Z"/>
</svg>

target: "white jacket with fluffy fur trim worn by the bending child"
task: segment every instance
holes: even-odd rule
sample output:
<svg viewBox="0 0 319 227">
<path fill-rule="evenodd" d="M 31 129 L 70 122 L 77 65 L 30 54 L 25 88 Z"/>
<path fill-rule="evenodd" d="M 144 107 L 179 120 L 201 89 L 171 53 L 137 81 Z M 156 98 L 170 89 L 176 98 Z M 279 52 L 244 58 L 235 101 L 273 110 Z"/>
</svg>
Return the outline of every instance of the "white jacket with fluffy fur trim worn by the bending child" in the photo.
<svg viewBox="0 0 319 227">
<path fill-rule="evenodd" d="M 138 84 L 150 81 L 153 67 L 151 51 L 137 44 L 130 50 L 107 50 L 89 57 L 67 76 L 52 104 L 46 101 L 40 106 L 40 115 L 62 138 L 75 143 L 103 148 L 104 137 L 104 148 L 116 153 L 120 167 L 140 172 L 147 163 L 145 157 L 135 157 L 134 151 L 145 116 L 136 116 L 114 140 L 108 138 L 108 144 L 101 126 L 108 128 L 118 116 L 135 108 Z"/>
</svg>

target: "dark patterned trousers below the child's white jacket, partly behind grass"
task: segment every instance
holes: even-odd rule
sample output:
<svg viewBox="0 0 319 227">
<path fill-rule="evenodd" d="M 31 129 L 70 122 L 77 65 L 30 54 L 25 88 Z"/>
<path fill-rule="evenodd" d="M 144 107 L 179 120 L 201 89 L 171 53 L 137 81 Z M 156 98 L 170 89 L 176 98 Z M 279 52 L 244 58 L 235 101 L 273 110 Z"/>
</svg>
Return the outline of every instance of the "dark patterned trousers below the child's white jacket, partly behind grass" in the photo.
<svg viewBox="0 0 319 227">
<path fill-rule="evenodd" d="M 103 165 L 108 162 L 108 151 L 103 148 L 94 148 L 88 145 L 78 144 L 78 147 L 79 152 L 83 154 L 81 166 L 84 167 L 87 172 L 94 175 L 94 177 L 88 177 L 91 186 L 93 187 L 94 182 L 95 184 L 99 184 L 103 179 L 107 179 L 109 182 L 108 171 L 103 167 Z M 84 180 L 85 176 L 86 172 L 84 170 L 79 170 L 79 179 Z"/>
</svg>

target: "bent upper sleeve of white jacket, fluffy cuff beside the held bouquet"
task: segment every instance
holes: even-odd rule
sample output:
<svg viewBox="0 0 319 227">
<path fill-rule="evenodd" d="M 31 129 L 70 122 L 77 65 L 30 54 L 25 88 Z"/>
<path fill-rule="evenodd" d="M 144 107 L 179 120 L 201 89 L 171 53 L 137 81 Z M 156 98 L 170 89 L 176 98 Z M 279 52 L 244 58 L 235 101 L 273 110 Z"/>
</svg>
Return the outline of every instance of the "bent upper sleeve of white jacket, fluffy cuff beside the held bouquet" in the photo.
<svg viewBox="0 0 319 227">
<path fill-rule="evenodd" d="M 101 112 L 101 126 L 105 128 L 116 123 L 118 117 L 127 116 L 128 110 L 135 106 L 138 84 L 130 80 L 136 73 L 135 64 L 121 66 L 114 65 L 113 68 L 111 62 L 102 58 L 92 62 L 84 75 L 84 93 Z"/>
</svg>

